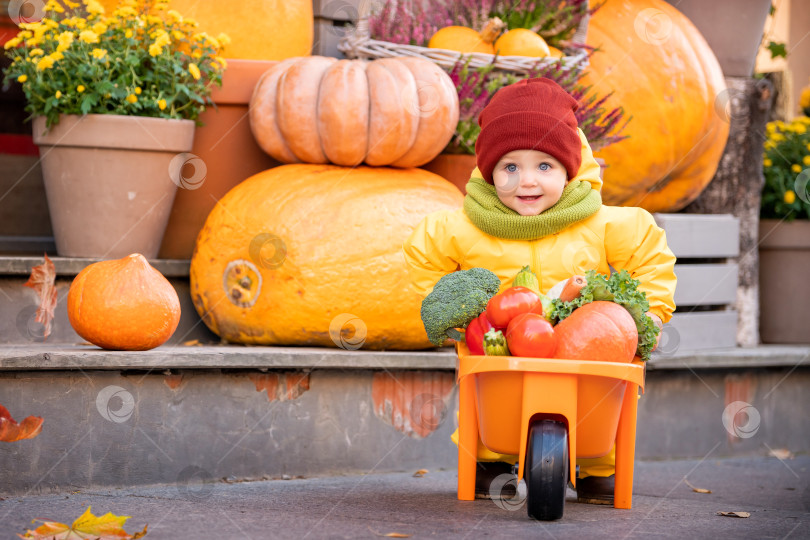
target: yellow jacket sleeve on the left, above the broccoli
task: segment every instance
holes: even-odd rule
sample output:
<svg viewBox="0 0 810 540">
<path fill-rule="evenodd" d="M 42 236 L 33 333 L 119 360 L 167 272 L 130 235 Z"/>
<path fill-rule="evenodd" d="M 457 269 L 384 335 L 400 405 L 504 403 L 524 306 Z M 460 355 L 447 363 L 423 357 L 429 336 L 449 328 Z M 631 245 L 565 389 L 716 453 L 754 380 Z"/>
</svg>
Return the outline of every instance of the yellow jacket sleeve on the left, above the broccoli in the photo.
<svg viewBox="0 0 810 540">
<path fill-rule="evenodd" d="M 448 223 L 452 212 L 440 210 L 426 216 L 402 245 L 411 288 L 423 298 L 442 276 L 460 269 L 453 228 Z"/>
</svg>

